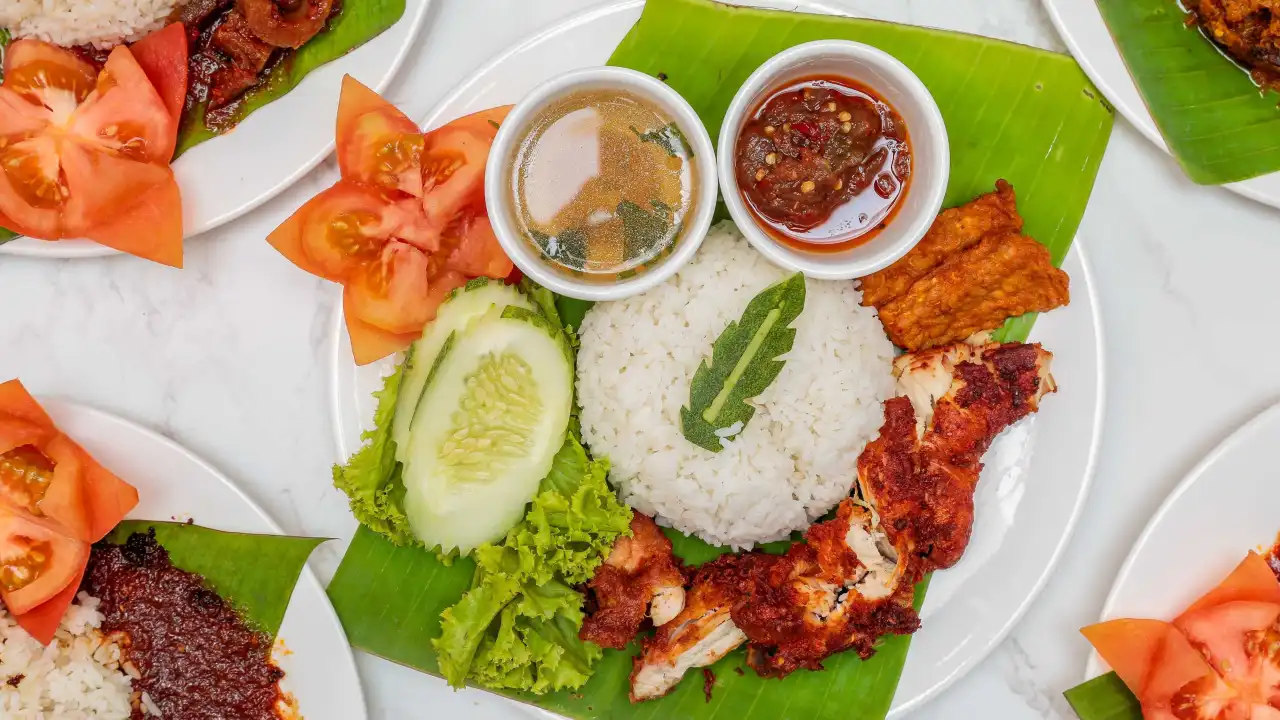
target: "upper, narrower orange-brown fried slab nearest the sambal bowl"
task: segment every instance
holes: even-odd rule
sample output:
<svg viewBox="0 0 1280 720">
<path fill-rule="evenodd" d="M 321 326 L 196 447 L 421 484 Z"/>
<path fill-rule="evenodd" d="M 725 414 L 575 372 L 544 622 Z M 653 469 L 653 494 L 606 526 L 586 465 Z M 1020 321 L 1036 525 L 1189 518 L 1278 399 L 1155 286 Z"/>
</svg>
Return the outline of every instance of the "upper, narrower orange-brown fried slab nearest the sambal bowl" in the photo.
<svg viewBox="0 0 1280 720">
<path fill-rule="evenodd" d="M 901 260 L 863 278 L 863 306 L 881 307 L 901 297 L 916 281 L 952 255 L 973 247 L 988 234 L 1020 233 L 1014 186 L 996 181 L 996 191 L 938 214 L 929 232 Z"/>
</svg>

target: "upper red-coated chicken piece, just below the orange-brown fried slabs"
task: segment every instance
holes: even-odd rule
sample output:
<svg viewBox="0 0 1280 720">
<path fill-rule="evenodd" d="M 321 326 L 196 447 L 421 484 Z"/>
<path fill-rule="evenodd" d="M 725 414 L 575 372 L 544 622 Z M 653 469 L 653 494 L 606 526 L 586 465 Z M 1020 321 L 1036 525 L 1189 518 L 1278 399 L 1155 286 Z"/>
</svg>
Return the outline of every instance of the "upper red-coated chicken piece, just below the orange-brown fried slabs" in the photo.
<svg viewBox="0 0 1280 720">
<path fill-rule="evenodd" d="M 951 568 L 973 530 L 982 455 L 1057 389 L 1038 345 L 952 345 L 893 364 L 904 393 L 884 404 L 881 434 L 858 457 L 858 484 L 878 512 L 873 529 L 901 556 L 906 579 Z"/>
</svg>

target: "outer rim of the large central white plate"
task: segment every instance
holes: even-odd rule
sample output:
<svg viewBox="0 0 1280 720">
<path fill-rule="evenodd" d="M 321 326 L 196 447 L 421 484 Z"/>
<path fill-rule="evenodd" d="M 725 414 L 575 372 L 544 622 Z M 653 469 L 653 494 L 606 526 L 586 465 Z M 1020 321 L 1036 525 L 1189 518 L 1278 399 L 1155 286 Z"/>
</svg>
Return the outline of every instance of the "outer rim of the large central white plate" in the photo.
<svg viewBox="0 0 1280 720">
<path fill-rule="evenodd" d="M 520 42 L 511 46 L 500 55 L 497 55 L 490 61 L 471 70 L 470 74 L 467 74 L 462 81 L 460 81 L 458 85 L 453 87 L 453 90 L 442 96 L 439 102 L 436 102 L 436 105 L 430 111 L 428 111 L 424 119 L 419 123 L 420 127 L 428 128 L 439 123 L 448 106 L 457 104 L 461 99 L 463 99 L 467 95 L 467 92 L 470 92 L 477 83 L 481 82 L 481 78 L 494 72 L 503 63 L 509 61 L 513 56 L 524 53 L 527 47 L 544 42 L 559 33 L 563 33 L 580 24 L 589 23 L 599 17 L 640 8 L 644 5 L 644 1 L 645 0 L 605 0 L 603 3 L 585 8 L 579 13 L 567 15 L 541 29 L 530 33 L 529 36 L 525 36 Z M 1044 0 L 1044 3 L 1050 0 Z M 823 8 L 823 9 L 827 8 L 820 0 L 790 0 L 787 5 L 795 8 Z M 1082 266 L 1080 274 L 1084 281 L 1085 296 L 1089 299 L 1089 307 L 1091 307 L 1089 320 L 1093 329 L 1093 338 L 1096 347 L 1093 354 L 1093 363 L 1094 368 L 1097 369 L 1097 388 L 1093 398 L 1094 411 L 1093 416 L 1091 418 L 1093 428 L 1089 437 L 1088 459 L 1085 461 L 1085 469 L 1080 482 L 1080 488 L 1079 492 L 1076 493 L 1076 498 L 1071 507 L 1070 515 L 1068 516 L 1065 529 L 1061 537 L 1059 538 L 1059 542 L 1055 546 L 1052 553 L 1050 555 L 1048 561 L 1044 562 L 1039 577 L 1032 584 L 1030 591 L 1027 593 L 1025 598 L 1018 606 L 1015 612 L 1010 614 L 1009 619 L 1005 621 L 1004 625 L 1001 625 L 998 632 L 993 633 L 991 639 L 986 644 L 977 648 L 977 652 L 972 653 L 970 657 L 964 662 L 961 662 L 951 674 L 942 678 L 941 680 L 934 683 L 931 688 L 919 693 L 916 697 L 904 702 L 901 706 L 892 707 L 890 710 L 888 717 L 892 719 L 901 717 L 908 712 L 918 710 L 920 706 L 928 703 L 938 694 L 941 694 L 951 685 L 954 685 L 956 682 L 966 676 L 969 673 L 973 671 L 974 667 L 977 667 L 980 662 L 983 662 L 987 657 L 989 657 L 992 651 L 995 651 L 996 647 L 1002 644 L 1009 638 L 1014 628 L 1016 628 L 1018 624 L 1021 623 L 1023 618 L 1025 618 L 1030 607 L 1036 603 L 1036 601 L 1039 600 L 1041 593 L 1043 592 L 1044 587 L 1048 584 L 1053 574 L 1057 571 L 1057 566 L 1062 560 L 1062 555 L 1066 552 L 1066 548 L 1070 546 L 1071 539 L 1075 536 L 1075 530 L 1083 515 L 1084 506 L 1088 502 L 1091 491 L 1093 488 L 1093 480 L 1097 475 L 1098 455 L 1102 441 L 1102 428 L 1106 424 L 1106 391 L 1107 391 L 1106 334 L 1101 316 L 1101 302 L 1097 286 L 1094 283 L 1093 264 L 1089 261 L 1088 252 L 1084 249 L 1083 243 L 1080 242 L 1080 238 L 1082 233 L 1079 232 L 1079 229 L 1076 229 L 1076 234 L 1071 241 L 1070 252 L 1075 254 L 1080 263 Z M 340 302 L 335 302 L 332 322 L 333 322 L 333 334 L 330 336 L 332 369 L 329 374 L 330 375 L 329 401 L 330 401 L 330 420 L 333 423 L 332 427 L 334 432 L 334 448 L 337 451 L 337 462 L 340 464 L 346 462 L 349 456 L 349 454 L 344 455 L 344 452 L 347 452 L 348 450 L 351 452 L 356 452 L 360 448 L 360 446 L 348 448 L 347 447 L 348 443 L 343 432 L 343 414 L 342 414 L 343 402 L 342 402 L 342 388 L 339 387 L 340 386 L 339 368 L 344 361 L 349 363 L 351 360 L 343 355 L 343 347 L 340 342 L 342 333 L 346 332 L 346 320 Z M 1030 340 L 1034 341 L 1034 337 L 1032 337 Z M 525 707 L 541 711 L 541 708 L 536 706 L 525 706 Z M 541 712 L 545 714 L 547 711 Z M 548 715 L 548 716 L 559 717 L 558 715 Z"/>
</svg>

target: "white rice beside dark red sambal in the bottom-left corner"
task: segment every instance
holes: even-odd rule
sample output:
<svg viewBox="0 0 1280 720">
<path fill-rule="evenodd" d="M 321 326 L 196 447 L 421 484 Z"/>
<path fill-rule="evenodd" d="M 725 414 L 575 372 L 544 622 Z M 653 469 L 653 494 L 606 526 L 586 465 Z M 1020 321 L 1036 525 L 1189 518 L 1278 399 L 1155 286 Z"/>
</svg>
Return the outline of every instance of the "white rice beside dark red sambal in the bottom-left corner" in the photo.
<svg viewBox="0 0 1280 720">
<path fill-rule="evenodd" d="M 0 607 L 0 717 L 129 717 L 129 678 L 120 671 L 120 648 L 99 632 L 102 615 L 97 603 L 79 593 L 49 647 L 36 642 Z"/>
</svg>

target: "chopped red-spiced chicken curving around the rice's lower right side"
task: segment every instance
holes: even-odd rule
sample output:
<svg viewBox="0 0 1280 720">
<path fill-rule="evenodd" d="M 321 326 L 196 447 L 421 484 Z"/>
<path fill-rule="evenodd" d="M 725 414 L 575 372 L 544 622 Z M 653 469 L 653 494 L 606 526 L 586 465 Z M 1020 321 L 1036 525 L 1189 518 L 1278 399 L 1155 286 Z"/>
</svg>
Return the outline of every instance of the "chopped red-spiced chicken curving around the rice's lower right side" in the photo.
<svg viewBox="0 0 1280 720">
<path fill-rule="evenodd" d="M 982 455 L 1057 389 L 1051 360 L 1021 343 L 901 356 L 902 396 L 886 402 L 881 434 L 858 459 L 860 497 L 783 555 L 724 555 L 699 568 L 687 606 L 635 659 L 632 702 L 667 694 L 687 670 L 744 643 L 759 675 L 785 676 L 842 651 L 870 657 L 882 635 L 914 633 L 915 583 L 960 559 Z"/>
</svg>

